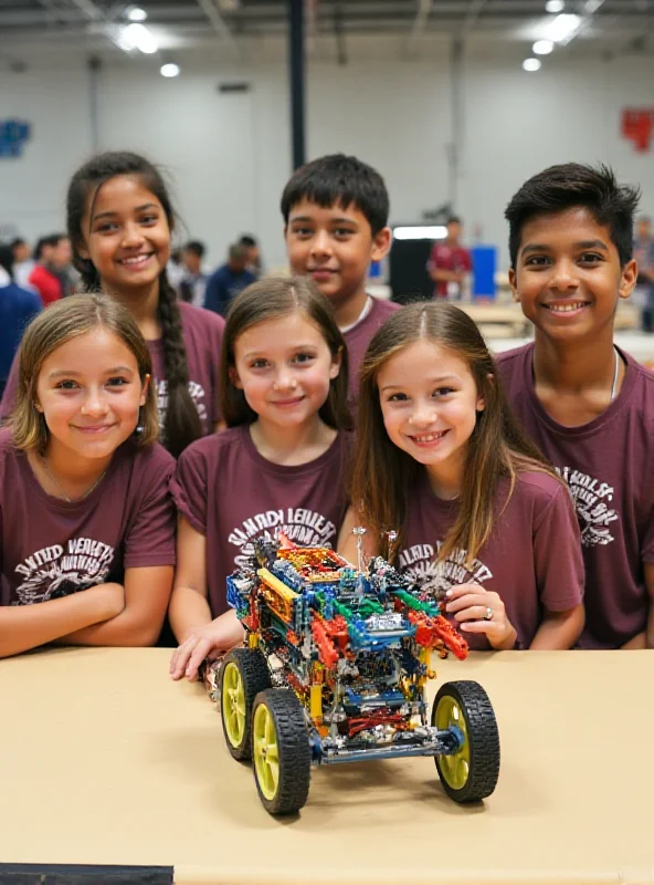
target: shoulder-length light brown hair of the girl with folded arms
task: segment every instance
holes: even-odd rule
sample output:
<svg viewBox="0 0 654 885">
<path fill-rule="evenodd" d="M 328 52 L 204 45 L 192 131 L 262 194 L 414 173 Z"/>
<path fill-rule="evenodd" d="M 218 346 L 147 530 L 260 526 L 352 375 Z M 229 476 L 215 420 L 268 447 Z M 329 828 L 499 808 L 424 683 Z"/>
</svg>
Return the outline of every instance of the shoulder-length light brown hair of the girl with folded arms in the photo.
<svg viewBox="0 0 654 885">
<path fill-rule="evenodd" d="M 43 454 L 48 444 L 48 426 L 36 408 L 36 386 L 45 360 L 72 339 L 102 326 L 134 354 L 141 384 L 150 376 L 143 406 L 143 433 L 136 437 L 138 446 L 148 446 L 157 439 L 157 395 L 152 384 L 152 358 L 136 320 L 129 311 L 106 295 L 71 295 L 40 313 L 28 326 L 19 351 L 18 389 L 10 425 L 17 448 L 33 449 Z"/>
</svg>

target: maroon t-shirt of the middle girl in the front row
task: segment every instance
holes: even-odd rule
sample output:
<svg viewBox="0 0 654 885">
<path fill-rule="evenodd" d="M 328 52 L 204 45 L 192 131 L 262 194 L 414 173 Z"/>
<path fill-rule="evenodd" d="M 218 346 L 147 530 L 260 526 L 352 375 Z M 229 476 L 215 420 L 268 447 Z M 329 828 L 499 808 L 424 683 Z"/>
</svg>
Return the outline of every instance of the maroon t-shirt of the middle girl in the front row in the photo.
<svg viewBox="0 0 654 885">
<path fill-rule="evenodd" d="M 207 538 L 213 617 L 226 611 L 226 576 L 249 561 L 254 538 L 281 530 L 298 544 L 336 544 L 350 441 L 340 433 L 319 458 L 286 467 L 261 456 L 243 425 L 182 452 L 171 489 L 180 512 Z"/>
</svg>

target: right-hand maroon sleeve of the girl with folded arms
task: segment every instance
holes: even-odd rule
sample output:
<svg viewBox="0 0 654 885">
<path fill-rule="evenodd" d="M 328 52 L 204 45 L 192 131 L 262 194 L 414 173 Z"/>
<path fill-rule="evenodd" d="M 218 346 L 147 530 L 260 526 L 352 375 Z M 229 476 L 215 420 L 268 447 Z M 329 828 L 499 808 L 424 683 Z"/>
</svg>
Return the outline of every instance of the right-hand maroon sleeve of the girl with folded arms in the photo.
<svg viewBox="0 0 654 885">
<path fill-rule="evenodd" d="M 159 457 L 161 456 L 161 457 Z M 175 565 L 176 513 L 170 494 L 175 459 L 157 452 L 144 465 L 140 488 L 145 491 L 130 520 L 124 541 L 126 569 Z"/>
</svg>

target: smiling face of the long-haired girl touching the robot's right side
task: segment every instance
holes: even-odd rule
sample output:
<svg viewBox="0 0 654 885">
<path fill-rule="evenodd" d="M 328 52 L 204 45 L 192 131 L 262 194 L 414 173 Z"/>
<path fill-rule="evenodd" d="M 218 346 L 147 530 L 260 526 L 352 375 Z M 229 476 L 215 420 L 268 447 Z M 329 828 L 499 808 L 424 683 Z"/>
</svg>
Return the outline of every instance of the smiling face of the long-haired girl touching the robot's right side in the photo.
<svg viewBox="0 0 654 885">
<path fill-rule="evenodd" d="M 390 440 L 435 479 L 461 481 L 467 440 L 484 408 L 467 364 L 422 339 L 383 364 L 377 386 Z"/>
</svg>

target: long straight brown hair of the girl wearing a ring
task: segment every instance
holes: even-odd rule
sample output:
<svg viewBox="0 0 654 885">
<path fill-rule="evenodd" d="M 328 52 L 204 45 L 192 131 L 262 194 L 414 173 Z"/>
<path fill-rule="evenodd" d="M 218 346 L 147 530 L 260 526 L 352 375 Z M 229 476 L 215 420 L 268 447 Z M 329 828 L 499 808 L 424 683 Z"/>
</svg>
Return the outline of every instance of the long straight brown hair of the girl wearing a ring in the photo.
<svg viewBox="0 0 654 885">
<path fill-rule="evenodd" d="M 393 313 L 368 346 L 359 378 L 357 449 L 351 500 L 362 521 L 381 542 L 398 532 L 391 556 L 403 543 L 410 494 L 424 467 L 391 442 L 383 424 L 377 379 L 381 367 L 410 344 L 424 339 L 463 360 L 485 402 L 470 437 L 460 494 L 458 517 L 439 551 L 467 551 L 472 562 L 486 543 L 497 516 L 497 485 L 508 477 L 508 503 L 516 473 L 539 470 L 556 476 L 514 417 L 495 360 L 474 321 L 453 304 L 410 304 Z"/>
</svg>

